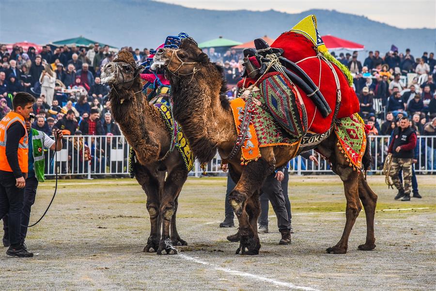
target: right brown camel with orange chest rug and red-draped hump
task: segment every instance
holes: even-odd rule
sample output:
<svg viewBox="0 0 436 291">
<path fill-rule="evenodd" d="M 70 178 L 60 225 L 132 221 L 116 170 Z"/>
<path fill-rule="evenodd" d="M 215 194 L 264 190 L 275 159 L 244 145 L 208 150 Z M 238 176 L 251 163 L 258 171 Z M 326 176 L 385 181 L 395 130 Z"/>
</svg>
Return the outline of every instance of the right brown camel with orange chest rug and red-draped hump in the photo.
<svg viewBox="0 0 436 291">
<path fill-rule="evenodd" d="M 238 135 L 231 107 L 224 94 L 226 84 L 222 68 L 212 63 L 191 38 L 184 40 L 177 50 L 160 48 L 154 62 L 155 66 L 166 68 L 173 90 L 174 116 L 183 126 L 197 159 L 201 163 L 208 162 L 214 157 L 217 149 L 221 157 L 228 157 Z M 316 148 L 331 162 L 332 170 L 341 177 L 347 200 L 342 238 L 336 245 L 327 248 L 327 252 L 346 253 L 350 231 L 362 208 L 360 201 L 365 209 L 367 236 L 365 244 L 359 245 L 358 249 L 372 250 L 375 247 L 374 213 L 377 195 L 371 190 L 362 173 L 349 167 L 349 162 L 336 143 L 336 135 L 330 134 Z M 370 163 L 368 148 L 363 160 L 366 165 Z M 294 146 L 264 147 L 261 148 L 262 157 L 246 166 L 240 164 L 240 151 L 228 160 L 231 177 L 237 181 L 229 199 L 239 220 L 240 245 L 236 253 L 259 253 L 259 189 L 265 177 L 274 168 L 287 163 L 295 152 Z"/>
</svg>

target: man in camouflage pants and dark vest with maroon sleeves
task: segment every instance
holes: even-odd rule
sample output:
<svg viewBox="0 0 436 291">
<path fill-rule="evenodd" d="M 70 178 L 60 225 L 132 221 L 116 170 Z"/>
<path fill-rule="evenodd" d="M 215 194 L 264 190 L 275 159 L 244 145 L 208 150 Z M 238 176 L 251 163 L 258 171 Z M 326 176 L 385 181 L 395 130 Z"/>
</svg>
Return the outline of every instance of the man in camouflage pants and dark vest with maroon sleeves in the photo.
<svg viewBox="0 0 436 291">
<path fill-rule="evenodd" d="M 417 143 L 415 130 L 410 127 L 409 119 L 402 117 L 400 126 L 395 129 L 393 138 L 390 141 L 388 153 L 392 153 L 389 176 L 398 189 L 395 200 L 410 201 L 410 188 L 412 185 L 412 159 Z M 400 181 L 398 172 L 403 169 L 404 186 Z"/>
</svg>

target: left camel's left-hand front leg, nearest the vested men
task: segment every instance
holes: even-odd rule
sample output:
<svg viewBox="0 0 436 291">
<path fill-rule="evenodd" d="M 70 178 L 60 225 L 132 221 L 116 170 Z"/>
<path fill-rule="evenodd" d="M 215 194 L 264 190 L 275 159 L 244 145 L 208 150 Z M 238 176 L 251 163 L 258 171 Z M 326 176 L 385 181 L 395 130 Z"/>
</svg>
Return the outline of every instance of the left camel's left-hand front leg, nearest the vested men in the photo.
<svg viewBox="0 0 436 291">
<path fill-rule="evenodd" d="M 160 240 L 160 219 L 159 219 L 159 183 L 148 173 L 148 170 L 141 166 L 136 167 L 136 179 L 147 195 L 147 211 L 150 216 L 150 236 L 144 252 L 154 253 L 157 251 Z"/>
</svg>

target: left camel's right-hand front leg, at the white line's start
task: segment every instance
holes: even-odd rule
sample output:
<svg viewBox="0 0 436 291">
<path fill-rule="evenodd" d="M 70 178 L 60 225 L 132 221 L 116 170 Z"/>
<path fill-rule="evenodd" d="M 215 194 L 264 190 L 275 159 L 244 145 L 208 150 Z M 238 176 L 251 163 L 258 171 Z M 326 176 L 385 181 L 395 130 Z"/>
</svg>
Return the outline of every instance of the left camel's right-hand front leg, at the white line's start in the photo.
<svg viewBox="0 0 436 291">
<path fill-rule="evenodd" d="M 164 192 L 160 203 L 160 216 L 162 218 L 162 236 L 157 249 L 158 255 L 176 255 L 177 251 L 173 247 L 170 238 L 170 225 L 172 216 L 175 214 L 175 200 L 180 193 L 187 178 L 185 165 L 176 166 L 168 173 L 164 185 Z"/>
</svg>

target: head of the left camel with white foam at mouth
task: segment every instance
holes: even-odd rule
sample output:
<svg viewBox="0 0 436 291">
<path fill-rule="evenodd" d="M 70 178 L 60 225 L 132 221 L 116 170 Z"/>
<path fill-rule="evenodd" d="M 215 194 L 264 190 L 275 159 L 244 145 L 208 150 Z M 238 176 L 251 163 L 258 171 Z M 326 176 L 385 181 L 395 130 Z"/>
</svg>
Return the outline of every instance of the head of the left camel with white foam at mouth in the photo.
<svg viewBox="0 0 436 291">
<path fill-rule="evenodd" d="M 137 66 L 131 53 L 122 50 L 101 68 L 101 82 L 116 89 L 129 89 L 143 70 L 144 66 Z"/>
</svg>

